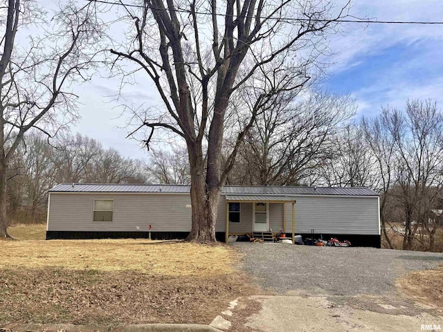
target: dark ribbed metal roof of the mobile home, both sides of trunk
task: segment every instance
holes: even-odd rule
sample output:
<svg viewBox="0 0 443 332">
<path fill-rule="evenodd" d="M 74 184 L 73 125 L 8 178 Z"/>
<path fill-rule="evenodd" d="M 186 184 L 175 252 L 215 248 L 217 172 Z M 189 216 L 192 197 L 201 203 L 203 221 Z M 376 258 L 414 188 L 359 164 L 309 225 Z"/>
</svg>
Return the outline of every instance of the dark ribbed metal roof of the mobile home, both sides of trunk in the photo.
<svg viewBox="0 0 443 332">
<path fill-rule="evenodd" d="M 183 193 L 190 192 L 190 185 L 128 185 L 116 183 L 62 183 L 49 192 L 127 192 L 127 193 Z M 239 195 L 341 195 L 379 196 L 366 187 L 291 187 L 279 185 L 225 185 L 222 194 Z"/>
</svg>

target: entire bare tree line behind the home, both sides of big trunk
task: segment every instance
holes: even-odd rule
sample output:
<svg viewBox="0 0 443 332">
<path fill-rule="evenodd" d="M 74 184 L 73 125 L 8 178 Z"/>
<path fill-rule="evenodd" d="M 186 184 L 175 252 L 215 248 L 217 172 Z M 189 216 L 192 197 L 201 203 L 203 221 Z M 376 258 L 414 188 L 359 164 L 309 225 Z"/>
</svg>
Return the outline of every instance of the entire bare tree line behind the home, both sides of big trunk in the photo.
<svg viewBox="0 0 443 332">
<path fill-rule="evenodd" d="M 355 109 L 349 96 L 312 93 L 267 110 L 242 143 L 227 183 L 370 187 L 381 194 L 386 247 L 442 250 L 442 113 L 430 100 L 360 120 L 352 120 Z M 190 184 L 188 155 L 179 145 L 151 150 L 142 161 L 80 134 L 50 142 L 33 131 L 11 159 L 14 223 L 43 222 L 47 191 L 57 183 Z"/>
</svg>

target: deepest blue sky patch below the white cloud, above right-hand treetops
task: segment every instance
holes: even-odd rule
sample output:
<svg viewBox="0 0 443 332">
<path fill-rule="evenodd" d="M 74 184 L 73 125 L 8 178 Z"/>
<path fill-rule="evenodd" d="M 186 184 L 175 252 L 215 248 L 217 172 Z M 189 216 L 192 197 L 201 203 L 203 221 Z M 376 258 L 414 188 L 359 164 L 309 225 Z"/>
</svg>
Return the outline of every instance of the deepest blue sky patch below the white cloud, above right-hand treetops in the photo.
<svg viewBox="0 0 443 332">
<path fill-rule="evenodd" d="M 441 104 L 440 52 L 443 42 L 399 42 L 375 54 L 361 55 L 358 64 L 332 73 L 321 85 L 328 91 L 354 95 L 359 114 L 366 116 L 377 114 L 382 105 L 401 108 L 408 98 L 433 98 Z"/>
</svg>

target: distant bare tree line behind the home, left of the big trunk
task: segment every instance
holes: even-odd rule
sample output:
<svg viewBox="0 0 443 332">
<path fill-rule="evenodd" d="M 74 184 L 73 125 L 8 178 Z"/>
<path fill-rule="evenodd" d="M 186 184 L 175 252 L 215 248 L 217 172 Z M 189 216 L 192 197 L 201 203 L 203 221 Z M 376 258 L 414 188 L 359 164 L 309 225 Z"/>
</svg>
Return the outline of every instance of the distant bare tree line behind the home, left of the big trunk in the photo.
<svg viewBox="0 0 443 332">
<path fill-rule="evenodd" d="M 176 149 L 152 151 L 149 161 L 141 161 L 79 133 L 48 142 L 30 132 L 8 169 L 10 223 L 44 222 L 48 190 L 59 183 L 189 183 L 186 158 Z"/>
</svg>

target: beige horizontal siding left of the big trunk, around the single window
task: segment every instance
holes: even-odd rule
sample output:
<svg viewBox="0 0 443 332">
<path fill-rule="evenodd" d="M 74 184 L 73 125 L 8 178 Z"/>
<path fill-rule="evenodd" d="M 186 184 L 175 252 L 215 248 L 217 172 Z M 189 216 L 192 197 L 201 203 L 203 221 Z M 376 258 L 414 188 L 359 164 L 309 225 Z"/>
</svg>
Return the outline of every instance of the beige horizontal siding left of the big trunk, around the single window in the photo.
<svg viewBox="0 0 443 332">
<path fill-rule="evenodd" d="M 114 200 L 113 221 L 93 221 L 94 200 Z M 190 196 L 183 194 L 51 193 L 49 231 L 189 232 Z"/>
</svg>

